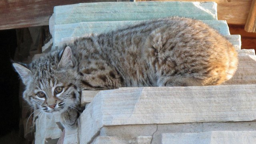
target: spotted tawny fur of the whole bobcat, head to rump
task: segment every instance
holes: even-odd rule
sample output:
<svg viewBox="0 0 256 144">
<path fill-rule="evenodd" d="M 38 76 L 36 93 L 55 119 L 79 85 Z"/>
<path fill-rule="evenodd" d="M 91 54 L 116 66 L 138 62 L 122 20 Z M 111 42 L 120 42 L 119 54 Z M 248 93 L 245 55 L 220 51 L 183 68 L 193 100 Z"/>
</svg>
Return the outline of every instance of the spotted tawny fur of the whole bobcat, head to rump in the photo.
<svg viewBox="0 0 256 144">
<path fill-rule="evenodd" d="M 217 85 L 234 75 L 237 64 L 236 50 L 216 30 L 199 20 L 171 17 L 79 38 L 34 60 L 28 69 L 14 67 L 26 84 L 28 103 L 47 110 L 50 104 L 69 104 L 50 112 L 62 113 L 62 123 L 72 127 L 81 90 Z M 65 92 L 55 96 L 56 86 Z M 39 99 L 38 91 L 46 98 Z"/>
</svg>

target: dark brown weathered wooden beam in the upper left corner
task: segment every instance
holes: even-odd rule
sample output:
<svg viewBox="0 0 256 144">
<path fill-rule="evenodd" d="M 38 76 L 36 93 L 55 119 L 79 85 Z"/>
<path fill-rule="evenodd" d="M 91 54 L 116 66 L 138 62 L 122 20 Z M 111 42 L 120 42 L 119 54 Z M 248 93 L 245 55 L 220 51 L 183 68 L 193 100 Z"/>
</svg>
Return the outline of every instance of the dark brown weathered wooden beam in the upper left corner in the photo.
<svg viewBox="0 0 256 144">
<path fill-rule="evenodd" d="M 0 0 L 0 30 L 48 25 L 53 7 L 116 0 Z"/>
</svg>

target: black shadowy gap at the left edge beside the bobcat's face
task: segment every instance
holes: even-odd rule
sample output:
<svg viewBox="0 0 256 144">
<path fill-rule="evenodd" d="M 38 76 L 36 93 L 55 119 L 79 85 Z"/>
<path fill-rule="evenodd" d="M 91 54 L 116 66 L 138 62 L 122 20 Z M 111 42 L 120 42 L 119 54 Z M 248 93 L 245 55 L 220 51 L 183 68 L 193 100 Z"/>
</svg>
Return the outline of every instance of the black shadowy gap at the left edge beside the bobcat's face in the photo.
<svg viewBox="0 0 256 144">
<path fill-rule="evenodd" d="M 0 136 L 19 129 L 20 82 L 10 61 L 16 47 L 16 30 L 0 30 Z"/>
</svg>

